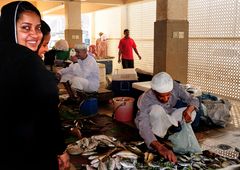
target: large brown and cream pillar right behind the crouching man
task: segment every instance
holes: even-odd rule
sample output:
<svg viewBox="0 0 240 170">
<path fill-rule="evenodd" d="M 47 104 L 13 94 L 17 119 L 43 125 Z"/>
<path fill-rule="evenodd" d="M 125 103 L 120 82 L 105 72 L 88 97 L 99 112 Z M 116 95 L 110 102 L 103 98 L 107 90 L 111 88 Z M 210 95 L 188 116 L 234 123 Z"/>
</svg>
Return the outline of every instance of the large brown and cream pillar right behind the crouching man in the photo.
<svg viewBox="0 0 240 170">
<path fill-rule="evenodd" d="M 188 0 L 157 0 L 154 23 L 154 74 L 168 72 L 187 83 Z"/>
</svg>

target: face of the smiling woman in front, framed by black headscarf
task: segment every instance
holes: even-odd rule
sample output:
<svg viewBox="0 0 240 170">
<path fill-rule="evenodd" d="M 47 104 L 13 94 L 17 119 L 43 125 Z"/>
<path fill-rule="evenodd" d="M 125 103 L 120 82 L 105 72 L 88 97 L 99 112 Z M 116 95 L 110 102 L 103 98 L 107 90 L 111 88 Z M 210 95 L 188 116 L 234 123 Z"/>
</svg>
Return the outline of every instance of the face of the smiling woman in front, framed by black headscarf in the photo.
<svg viewBox="0 0 240 170">
<path fill-rule="evenodd" d="M 17 41 L 36 51 L 42 39 L 40 17 L 31 11 L 24 11 L 17 20 Z"/>
</svg>

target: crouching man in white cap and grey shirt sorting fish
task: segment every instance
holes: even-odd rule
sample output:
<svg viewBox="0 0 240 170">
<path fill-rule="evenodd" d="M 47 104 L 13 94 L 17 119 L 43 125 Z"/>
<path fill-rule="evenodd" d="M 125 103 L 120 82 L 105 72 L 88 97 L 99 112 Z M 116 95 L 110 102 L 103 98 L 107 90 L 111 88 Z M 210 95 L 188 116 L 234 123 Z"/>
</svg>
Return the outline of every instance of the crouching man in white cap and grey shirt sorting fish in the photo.
<svg viewBox="0 0 240 170">
<path fill-rule="evenodd" d="M 164 138 L 170 129 L 180 131 L 182 119 L 186 123 L 193 121 L 192 126 L 197 126 L 200 114 L 196 114 L 195 110 L 198 110 L 199 100 L 173 81 L 168 73 L 160 72 L 152 78 L 151 89 L 139 97 L 137 105 L 139 111 L 135 124 L 147 147 L 176 163 L 173 151 L 161 144 L 156 136 Z"/>
</svg>

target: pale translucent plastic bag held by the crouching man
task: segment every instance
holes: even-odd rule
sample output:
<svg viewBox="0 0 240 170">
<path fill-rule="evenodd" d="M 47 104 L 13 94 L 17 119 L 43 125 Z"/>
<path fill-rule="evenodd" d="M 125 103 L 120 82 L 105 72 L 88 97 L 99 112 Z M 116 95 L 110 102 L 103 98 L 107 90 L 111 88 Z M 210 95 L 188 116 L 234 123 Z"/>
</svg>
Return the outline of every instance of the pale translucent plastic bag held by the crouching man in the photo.
<svg viewBox="0 0 240 170">
<path fill-rule="evenodd" d="M 182 130 L 170 135 L 168 139 L 172 142 L 175 153 L 202 153 L 190 123 L 183 122 Z"/>
</svg>

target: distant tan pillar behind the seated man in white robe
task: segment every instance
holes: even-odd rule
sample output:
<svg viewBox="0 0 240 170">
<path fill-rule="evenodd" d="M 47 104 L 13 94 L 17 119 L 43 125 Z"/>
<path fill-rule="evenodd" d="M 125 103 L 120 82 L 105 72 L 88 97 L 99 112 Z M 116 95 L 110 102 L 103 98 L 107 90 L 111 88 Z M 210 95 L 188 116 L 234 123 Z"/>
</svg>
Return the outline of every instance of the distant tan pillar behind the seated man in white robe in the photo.
<svg viewBox="0 0 240 170">
<path fill-rule="evenodd" d="M 65 39 L 70 47 L 82 43 L 81 2 L 65 2 Z"/>
</svg>

